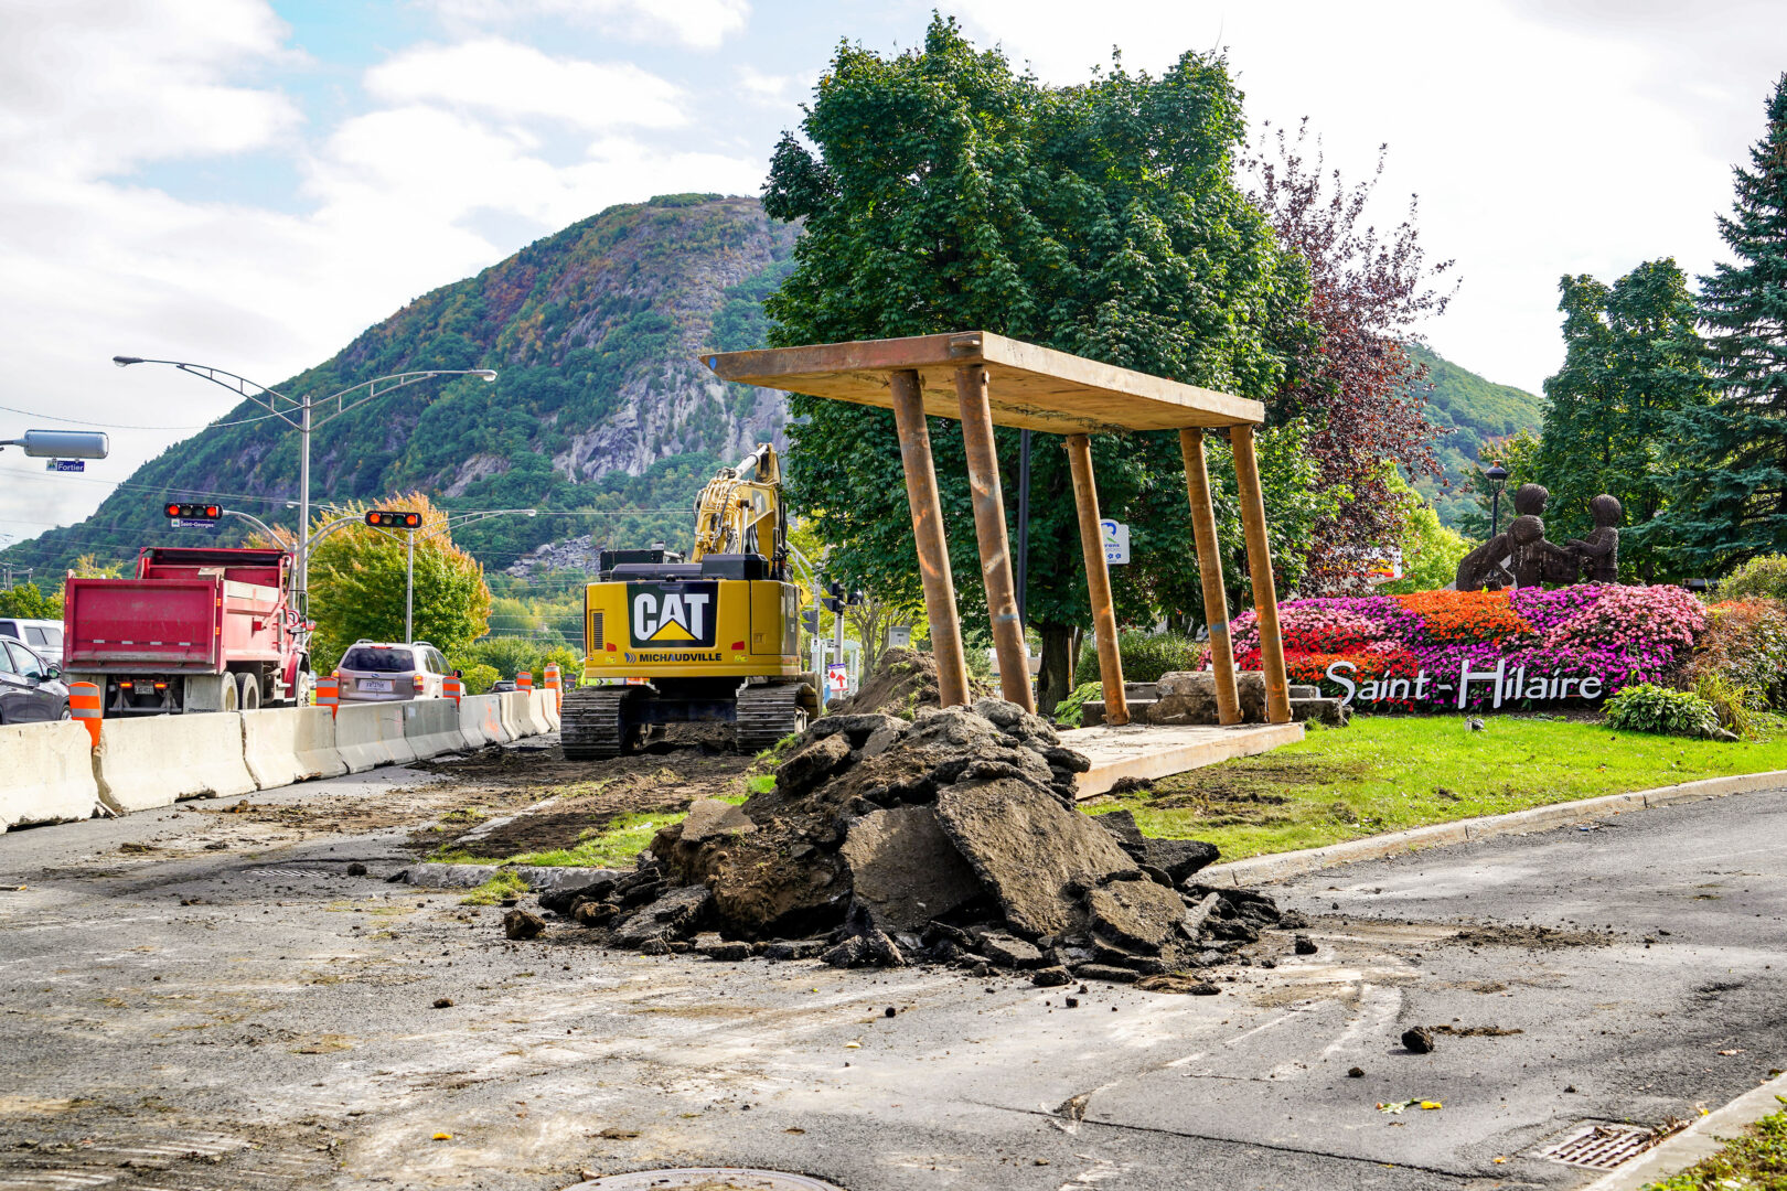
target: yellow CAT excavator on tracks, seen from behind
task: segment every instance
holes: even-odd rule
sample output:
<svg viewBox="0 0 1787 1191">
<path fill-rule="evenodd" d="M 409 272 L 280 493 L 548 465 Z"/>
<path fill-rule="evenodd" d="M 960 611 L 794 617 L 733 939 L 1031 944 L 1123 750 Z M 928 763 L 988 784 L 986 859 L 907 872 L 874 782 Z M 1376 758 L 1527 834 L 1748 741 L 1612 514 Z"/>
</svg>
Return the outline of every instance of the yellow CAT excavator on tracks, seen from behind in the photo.
<svg viewBox="0 0 1787 1191">
<path fill-rule="evenodd" d="M 565 696 L 568 761 L 638 750 L 670 723 L 731 723 L 740 752 L 804 732 L 818 682 L 801 670 L 801 593 L 776 448 L 758 443 L 695 498 L 695 546 L 604 550 L 584 589 L 583 686 Z"/>
</svg>

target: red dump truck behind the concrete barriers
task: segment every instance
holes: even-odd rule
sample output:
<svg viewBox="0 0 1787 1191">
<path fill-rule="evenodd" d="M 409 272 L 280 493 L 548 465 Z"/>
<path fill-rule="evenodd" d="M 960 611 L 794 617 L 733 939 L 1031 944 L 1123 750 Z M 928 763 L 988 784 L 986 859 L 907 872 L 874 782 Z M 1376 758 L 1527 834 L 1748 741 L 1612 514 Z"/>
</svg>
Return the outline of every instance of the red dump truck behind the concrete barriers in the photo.
<svg viewBox="0 0 1787 1191">
<path fill-rule="evenodd" d="M 70 579 L 63 680 L 107 716 L 307 704 L 309 625 L 284 550 L 148 546 L 134 579 Z"/>
</svg>

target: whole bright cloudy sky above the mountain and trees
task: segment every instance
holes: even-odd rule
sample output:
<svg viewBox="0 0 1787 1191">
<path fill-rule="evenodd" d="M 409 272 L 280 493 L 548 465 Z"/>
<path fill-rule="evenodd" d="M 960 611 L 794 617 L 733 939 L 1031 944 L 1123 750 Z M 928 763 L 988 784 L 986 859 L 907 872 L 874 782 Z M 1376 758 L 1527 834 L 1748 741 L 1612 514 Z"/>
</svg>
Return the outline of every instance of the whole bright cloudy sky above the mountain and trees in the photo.
<svg viewBox="0 0 1787 1191">
<path fill-rule="evenodd" d="M 1462 279 L 1422 334 L 1531 391 L 1562 275 L 1721 259 L 1787 70 L 1787 0 L 0 0 L 0 439 L 113 437 L 84 475 L 0 452 L 0 545 L 234 404 L 113 355 L 277 384 L 611 204 L 756 195 L 838 43 L 933 7 L 1054 84 L 1222 52 L 1254 134 L 1306 116 L 1347 179 L 1387 146 L 1374 218 L 1417 195 Z"/>
</svg>

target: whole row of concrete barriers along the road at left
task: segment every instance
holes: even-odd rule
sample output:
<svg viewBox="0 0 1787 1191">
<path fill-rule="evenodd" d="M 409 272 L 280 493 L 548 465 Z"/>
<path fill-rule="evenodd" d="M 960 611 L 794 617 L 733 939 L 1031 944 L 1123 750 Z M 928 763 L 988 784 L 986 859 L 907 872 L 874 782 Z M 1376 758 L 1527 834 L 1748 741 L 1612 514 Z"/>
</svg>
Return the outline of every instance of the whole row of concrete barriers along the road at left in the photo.
<svg viewBox="0 0 1787 1191">
<path fill-rule="evenodd" d="M 0 832 L 363 773 L 556 729 L 550 689 L 0 725 Z"/>
</svg>

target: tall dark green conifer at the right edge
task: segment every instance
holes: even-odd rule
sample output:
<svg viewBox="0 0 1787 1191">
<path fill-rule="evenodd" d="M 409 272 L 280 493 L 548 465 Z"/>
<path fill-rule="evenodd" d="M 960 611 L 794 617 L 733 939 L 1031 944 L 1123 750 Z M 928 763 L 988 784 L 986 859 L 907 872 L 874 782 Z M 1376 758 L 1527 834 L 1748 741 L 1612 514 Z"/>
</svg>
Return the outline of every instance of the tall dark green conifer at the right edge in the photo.
<svg viewBox="0 0 1787 1191">
<path fill-rule="evenodd" d="M 1732 252 L 1701 279 L 1716 400 L 1683 420 L 1669 520 L 1699 570 L 1787 552 L 1787 73 L 1767 129 L 1733 168 L 1719 218 Z"/>
</svg>

